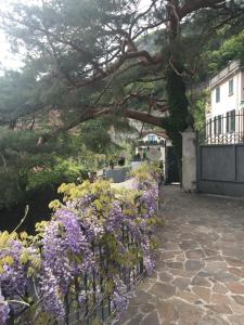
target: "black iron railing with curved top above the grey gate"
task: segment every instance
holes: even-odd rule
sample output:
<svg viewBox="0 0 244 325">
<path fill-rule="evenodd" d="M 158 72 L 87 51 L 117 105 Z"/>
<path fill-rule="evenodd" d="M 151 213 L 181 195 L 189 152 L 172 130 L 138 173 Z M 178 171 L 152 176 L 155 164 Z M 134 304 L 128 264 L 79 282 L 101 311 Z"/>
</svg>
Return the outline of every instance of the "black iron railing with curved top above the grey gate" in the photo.
<svg viewBox="0 0 244 325">
<path fill-rule="evenodd" d="M 200 130 L 198 142 L 205 145 L 244 144 L 244 110 L 210 118 Z"/>
</svg>

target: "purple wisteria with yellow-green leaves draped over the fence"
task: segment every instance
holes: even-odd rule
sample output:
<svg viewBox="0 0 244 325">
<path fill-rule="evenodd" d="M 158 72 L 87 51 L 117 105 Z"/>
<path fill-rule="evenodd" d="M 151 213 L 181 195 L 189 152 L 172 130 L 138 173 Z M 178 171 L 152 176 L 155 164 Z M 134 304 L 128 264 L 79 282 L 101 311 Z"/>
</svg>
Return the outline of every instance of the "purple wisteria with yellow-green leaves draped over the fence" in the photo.
<svg viewBox="0 0 244 325">
<path fill-rule="evenodd" d="M 126 191 L 103 180 L 62 184 L 63 203 L 50 205 L 35 236 L 0 233 L 0 324 L 80 320 L 104 299 L 125 310 L 138 265 L 153 270 L 155 174 L 142 166 Z"/>
</svg>

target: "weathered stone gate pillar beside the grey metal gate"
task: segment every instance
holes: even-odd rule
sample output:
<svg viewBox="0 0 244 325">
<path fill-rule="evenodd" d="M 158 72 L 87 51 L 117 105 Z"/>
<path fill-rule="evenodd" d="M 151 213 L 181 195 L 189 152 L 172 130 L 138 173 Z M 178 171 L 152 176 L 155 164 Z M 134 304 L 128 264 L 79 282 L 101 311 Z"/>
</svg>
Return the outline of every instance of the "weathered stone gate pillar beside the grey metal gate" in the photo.
<svg viewBox="0 0 244 325">
<path fill-rule="evenodd" d="M 196 132 L 189 127 L 182 135 L 182 188 L 196 192 Z"/>
</svg>

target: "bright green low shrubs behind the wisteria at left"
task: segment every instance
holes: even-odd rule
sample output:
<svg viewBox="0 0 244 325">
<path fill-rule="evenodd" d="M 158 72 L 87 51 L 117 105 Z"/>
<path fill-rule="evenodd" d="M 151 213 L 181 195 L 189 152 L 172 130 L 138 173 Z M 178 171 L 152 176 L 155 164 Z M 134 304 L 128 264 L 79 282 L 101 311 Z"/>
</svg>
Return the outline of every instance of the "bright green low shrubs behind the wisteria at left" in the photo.
<svg viewBox="0 0 244 325">
<path fill-rule="evenodd" d="M 88 171 L 82 165 L 65 159 L 57 159 L 53 167 L 23 168 L 18 171 L 14 168 L 1 168 L 0 209 L 27 203 L 47 190 L 56 192 L 64 182 L 80 182 L 87 179 Z"/>
</svg>

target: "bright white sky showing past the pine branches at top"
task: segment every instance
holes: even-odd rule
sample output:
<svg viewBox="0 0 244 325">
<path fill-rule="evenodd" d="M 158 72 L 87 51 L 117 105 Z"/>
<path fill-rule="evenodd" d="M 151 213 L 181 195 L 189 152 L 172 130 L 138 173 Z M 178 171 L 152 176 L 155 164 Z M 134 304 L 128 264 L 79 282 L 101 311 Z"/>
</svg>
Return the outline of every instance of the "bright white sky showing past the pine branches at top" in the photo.
<svg viewBox="0 0 244 325">
<path fill-rule="evenodd" d="M 37 0 L 22 0 L 23 2 L 36 2 Z M 4 11 L 10 3 L 17 3 L 20 0 L 0 0 L 0 10 Z M 151 0 L 141 0 L 140 9 L 144 10 L 151 3 Z M 0 75 L 3 69 L 20 69 L 23 66 L 21 56 L 11 53 L 10 43 L 0 29 Z"/>
</svg>

